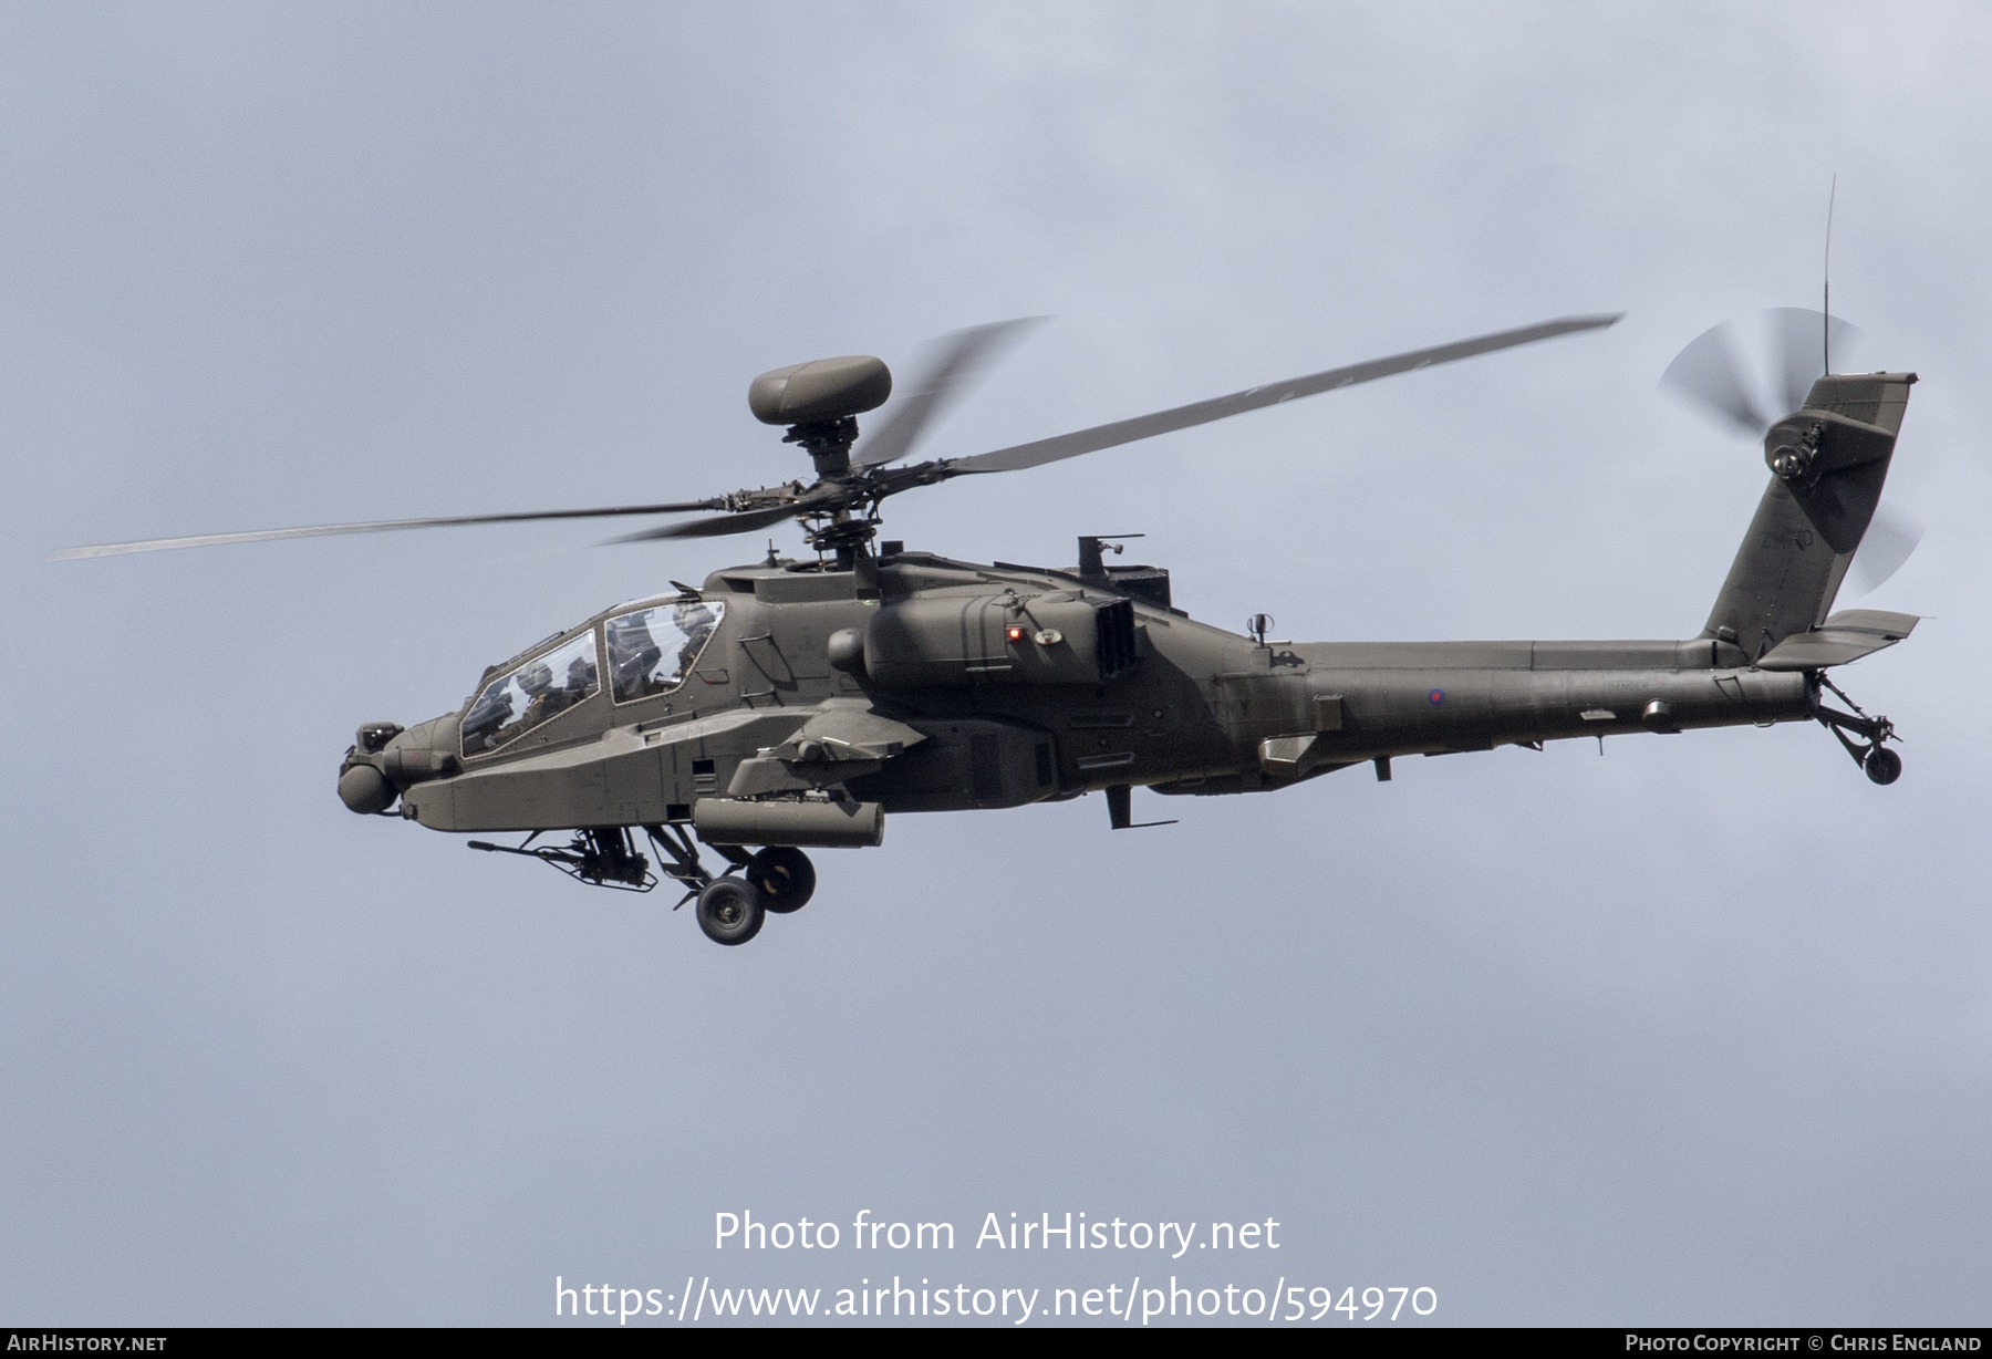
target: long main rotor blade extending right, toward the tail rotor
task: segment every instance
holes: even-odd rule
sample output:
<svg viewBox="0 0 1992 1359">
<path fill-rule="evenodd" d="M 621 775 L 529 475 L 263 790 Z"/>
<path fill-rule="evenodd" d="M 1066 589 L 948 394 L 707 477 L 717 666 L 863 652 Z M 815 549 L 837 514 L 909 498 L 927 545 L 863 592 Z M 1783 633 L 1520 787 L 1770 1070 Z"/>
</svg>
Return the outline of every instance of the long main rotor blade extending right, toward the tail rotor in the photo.
<svg viewBox="0 0 1992 1359">
<path fill-rule="evenodd" d="M 1478 339 L 1458 341 L 1456 345 L 1414 349 L 1410 353 L 1392 355 L 1388 359 L 1370 359 L 1369 363 L 1353 363 L 1347 369 L 1309 373 L 1307 377 L 1289 379 L 1285 383 L 1247 387 L 1245 391 L 1231 393 L 1229 397 L 1213 397 L 1209 401 L 1197 401 L 1193 405 L 1175 407 L 1171 410 L 1137 414 L 1131 420 L 1114 420 L 1112 424 L 1096 424 L 1092 428 L 1074 430 L 1072 434 L 1056 434 L 1054 438 L 1040 438 L 1028 444 L 1012 444 L 1010 448 L 996 448 L 994 452 L 978 452 L 970 458 L 956 458 L 948 462 L 948 470 L 950 474 L 1014 472 L 1026 466 L 1042 466 L 1046 462 L 1058 462 L 1060 458 L 1076 458 L 1082 452 L 1098 452 L 1100 448 L 1114 448 L 1116 444 L 1131 444 L 1137 438 L 1153 438 L 1155 434 L 1167 434 L 1171 430 L 1189 428 L 1193 424 L 1209 424 L 1211 420 L 1223 420 L 1227 416 L 1243 414 L 1247 410 L 1277 407 L 1279 403 L 1293 401 L 1297 397 L 1313 397 L 1317 393 L 1335 391 L 1337 387 L 1370 383 L 1378 377 L 1390 377 L 1392 373 L 1410 373 L 1412 369 L 1428 369 L 1436 363 L 1452 363 L 1454 359 L 1470 359 L 1474 355 L 1494 353 L 1496 349 L 1514 349 L 1516 345 L 1532 345 L 1536 341 L 1552 339 L 1556 335 L 1570 335 L 1574 331 L 1596 331 L 1608 325 L 1616 325 L 1618 319 L 1623 315 L 1625 313 L 1619 311 L 1598 317 L 1564 317 L 1560 321 L 1544 321 L 1542 325 L 1528 325 L 1518 331 L 1496 331 L 1494 335 L 1482 335 Z"/>
</svg>

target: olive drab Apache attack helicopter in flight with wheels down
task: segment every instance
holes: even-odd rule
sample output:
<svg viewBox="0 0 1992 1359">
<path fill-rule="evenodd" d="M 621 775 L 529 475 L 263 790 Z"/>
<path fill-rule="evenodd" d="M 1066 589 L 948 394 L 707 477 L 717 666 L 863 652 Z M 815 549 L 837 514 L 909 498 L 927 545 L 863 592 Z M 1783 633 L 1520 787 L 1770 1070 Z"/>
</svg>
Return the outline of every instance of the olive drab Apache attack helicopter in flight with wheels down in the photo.
<svg viewBox="0 0 1992 1359">
<path fill-rule="evenodd" d="M 880 504 L 916 486 L 1042 466 L 1618 319 L 1566 317 L 976 456 L 900 462 L 1024 325 L 998 323 L 942 341 L 924 381 L 865 442 L 857 416 L 892 393 L 878 359 L 757 377 L 747 405 L 811 456 L 809 482 L 50 556 L 701 514 L 614 540 L 641 542 L 801 520 L 815 558 L 783 558 L 771 544 L 761 562 L 604 610 L 490 666 L 452 713 L 412 727 L 363 723 L 339 765 L 339 797 L 355 813 L 524 833 L 520 845 L 470 847 L 540 859 L 594 887 L 651 891 L 671 879 L 685 889 L 677 905 L 697 901 L 699 927 L 721 945 L 747 943 L 769 913 L 811 899 L 805 849 L 878 845 L 888 813 L 1104 791 L 1120 831 L 1137 825 L 1137 785 L 1251 793 L 1357 765 L 1390 779 L 1402 755 L 1779 721 L 1823 723 L 1874 783 L 1892 783 L 1902 769 L 1886 747 L 1892 723 L 1855 705 L 1827 670 L 1906 638 L 1916 618 L 1829 608 L 1874 516 L 1916 375 L 1821 373 L 1829 351 L 1813 361 L 1797 343 L 1781 355 L 1777 405 L 1789 414 L 1777 418 L 1743 395 L 1723 327 L 1669 369 L 1683 391 L 1761 430 L 1771 468 L 1709 622 L 1687 640 L 1295 644 L 1271 640 L 1263 614 L 1245 634 L 1189 618 L 1171 604 L 1169 572 L 1110 564 L 1123 544 L 1108 536 L 1080 538 L 1078 564 L 1060 568 L 956 562 L 876 540 Z M 1845 709 L 1825 701 L 1829 691 Z M 564 845 L 536 843 L 562 833 L 572 835 Z M 655 871 L 637 833 L 657 853 Z M 701 847 L 723 861 L 717 873 Z"/>
</svg>

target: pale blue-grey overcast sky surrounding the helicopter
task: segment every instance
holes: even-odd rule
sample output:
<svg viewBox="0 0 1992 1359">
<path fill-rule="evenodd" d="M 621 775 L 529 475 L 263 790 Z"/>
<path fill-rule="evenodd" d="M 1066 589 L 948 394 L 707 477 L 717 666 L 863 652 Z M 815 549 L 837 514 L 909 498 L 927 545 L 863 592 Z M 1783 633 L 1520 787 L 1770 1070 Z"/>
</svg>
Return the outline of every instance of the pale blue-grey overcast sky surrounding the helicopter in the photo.
<svg viewBox="0 0 1992 1359">
<path fill-rule="evenodd" d="M 1173 1271 L 1982 1323 L 1988 62 L 1970 4 L 6 4 L 0 1321 Z M 1139 833 L 908 815 L 717 949 L 333 785 L 359 721 L 759 540 L 38 560 L 759 486 L 805 464 L 755 373 L 1002 317 L 1056 321 L 936 454 L 1623 309 L 888 532 L 1145 532 L 1177 604 L 1291 638 L 1685 638 L 1765 468 L 1653 385 L 1817 305 L 1835 173 L 1851 363 L 1922 375 L 1886 504 L 1928 536 L 1861 604 L 1928 622 L 1837 676 L 1902 729 L 1886 789 L 1787 725 L 1137 793 L 1181 817 Z M 741 1210 L 962 1243 L 715 1253 Z M 996 1255 L 990 1212 L 1283 1245 Z"/>
</svg>

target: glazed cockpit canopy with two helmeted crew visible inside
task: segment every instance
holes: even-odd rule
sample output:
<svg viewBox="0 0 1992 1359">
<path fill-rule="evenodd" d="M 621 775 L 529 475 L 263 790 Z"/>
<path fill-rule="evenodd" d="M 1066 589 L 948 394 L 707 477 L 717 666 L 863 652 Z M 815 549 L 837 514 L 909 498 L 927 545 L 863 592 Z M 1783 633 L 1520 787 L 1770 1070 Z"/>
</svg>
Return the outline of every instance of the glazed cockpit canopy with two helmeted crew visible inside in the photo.
<svg viewBox="0 0 1992 1359">
<path fill-rule="evenodd" d="M 671 600 L 612 614 L 492 678 L 464 713 L 464 757 L 502 749 L 594 697 L 604 656 L 618 703 L 669 693 L 691 674 L 725 610 L 723 602 Z"/>
</svg>

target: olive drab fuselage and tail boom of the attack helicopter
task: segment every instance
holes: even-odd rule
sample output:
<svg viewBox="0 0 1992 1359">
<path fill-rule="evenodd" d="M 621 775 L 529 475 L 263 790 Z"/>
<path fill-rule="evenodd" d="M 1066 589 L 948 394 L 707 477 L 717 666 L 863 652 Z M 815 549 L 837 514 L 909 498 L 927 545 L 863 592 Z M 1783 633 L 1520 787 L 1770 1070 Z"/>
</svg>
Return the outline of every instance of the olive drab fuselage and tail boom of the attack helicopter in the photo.
<svg viewBox="0 0 1992 1359">
<path fill-rule="evenodd" d="M 376 729 L 386 739 L 347 769 L 386 771 L 400 813 L 438 831 L 703 825 L 823 803 L 894 815 L 1133 785 L 1243 793 L 1370 761 L 1388 777 L 1398 755 L 1803 721 L 1817 701 L 1807 674 L 1709 638 L 1293 644 L 1191 620 L 1151 568 L 892 550 L 867 566 L 741 566 L 620 606 L 494 666 L 460 711 Z M 673 610 L 707 632 L 691 656 L 653 662 L 671 683 L 616 680 L 669 650 L 635 656 L 618 622 Z M 526 685 L 520 729 L 482 749 L 510 727 L 478 705 L 510 676 Z M 562 680 L 552 693 L 572 697 L 548 703 Z"/>
</svg>

